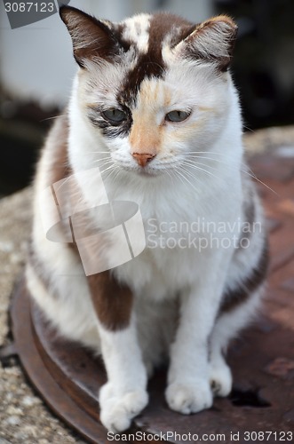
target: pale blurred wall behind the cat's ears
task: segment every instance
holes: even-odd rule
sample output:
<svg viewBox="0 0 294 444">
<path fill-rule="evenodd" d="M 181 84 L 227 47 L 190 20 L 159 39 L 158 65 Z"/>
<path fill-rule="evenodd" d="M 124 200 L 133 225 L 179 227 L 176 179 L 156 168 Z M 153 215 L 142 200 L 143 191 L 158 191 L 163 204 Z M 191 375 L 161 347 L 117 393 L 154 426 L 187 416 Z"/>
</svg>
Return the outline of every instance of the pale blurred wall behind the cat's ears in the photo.
<svg viewBox="0 0 294 444">
<path fill-rule="evenodd" d="M 212 15 L 211 0 L 165 0 L 166 11 L 199 22 Z M 109 19 L 122 20 L 134 12 L 152 12 L 158 0 L 72 0 L 70 5 Z M 75 61 L 68 32 L 59 14 L 23 28 L 11 29 L 0 1 L 0 79 L 4 89 L 41 106 L 68 99 Z"/>
</svg>

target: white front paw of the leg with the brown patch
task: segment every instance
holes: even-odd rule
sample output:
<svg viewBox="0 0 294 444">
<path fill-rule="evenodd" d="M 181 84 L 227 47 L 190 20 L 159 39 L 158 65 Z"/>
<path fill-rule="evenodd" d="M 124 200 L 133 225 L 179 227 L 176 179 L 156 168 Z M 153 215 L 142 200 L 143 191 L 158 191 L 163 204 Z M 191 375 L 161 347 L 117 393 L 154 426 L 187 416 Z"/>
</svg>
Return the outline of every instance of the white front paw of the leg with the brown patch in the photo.
<svg viewBox="0 0 294 444">
<path fill-rule="evenodd" d="M 107 383 L 99 392 L 100 421 L 109 432 L 120 433 L 127 430 L 131 420 L 147 406 L 145 390 L 133 390 L 118 395 L 115 387 Z"/>
</svg>

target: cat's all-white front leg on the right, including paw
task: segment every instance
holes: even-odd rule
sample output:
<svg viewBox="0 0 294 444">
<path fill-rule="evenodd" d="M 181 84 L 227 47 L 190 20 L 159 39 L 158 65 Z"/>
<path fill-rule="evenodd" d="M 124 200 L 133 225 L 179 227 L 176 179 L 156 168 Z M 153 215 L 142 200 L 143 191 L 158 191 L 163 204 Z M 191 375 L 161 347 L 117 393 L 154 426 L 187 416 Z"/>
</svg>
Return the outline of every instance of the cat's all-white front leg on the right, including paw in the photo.
<svg viewBox="0 0 294 444">
<path fill-rule="evenodd" d="M 208 341 L 218 313 L 224 276 L 203 276 L 181 295 L 180 321 L 171 345 L 166 400 L 172 410 L 183 414 L 210 408 Z"/>
</svg>

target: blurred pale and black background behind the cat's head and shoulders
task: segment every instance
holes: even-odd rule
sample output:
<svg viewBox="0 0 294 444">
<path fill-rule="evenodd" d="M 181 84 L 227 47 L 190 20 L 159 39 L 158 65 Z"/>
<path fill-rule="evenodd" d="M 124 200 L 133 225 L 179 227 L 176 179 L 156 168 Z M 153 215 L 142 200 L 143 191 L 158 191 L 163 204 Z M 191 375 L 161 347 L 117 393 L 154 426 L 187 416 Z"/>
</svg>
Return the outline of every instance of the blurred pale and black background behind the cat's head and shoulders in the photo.
<svg viewBox="0 0 294 444">
<path fill-rule="evenodd" d="M 70 38 L 58 14 L 12 29 L 4 3 L 0 0 L 0 197 L 31 182 L 45 134 L 68 101 L 76 70 Z M 241 94 L 244 131 L 294 123 L 293 0 L 72 0 L 69 4 L 115 21 L 158 10 L 195 23 L 228 13 L 239 26 L 232 71 Z"/>
</svg>

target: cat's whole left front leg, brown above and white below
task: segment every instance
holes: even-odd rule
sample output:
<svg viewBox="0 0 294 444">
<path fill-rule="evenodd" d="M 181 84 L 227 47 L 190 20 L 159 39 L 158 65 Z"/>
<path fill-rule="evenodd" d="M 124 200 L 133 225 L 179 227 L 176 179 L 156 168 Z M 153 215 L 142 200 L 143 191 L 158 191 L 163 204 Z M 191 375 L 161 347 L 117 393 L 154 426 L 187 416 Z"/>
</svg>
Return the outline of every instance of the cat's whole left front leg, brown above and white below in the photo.
<svg viewBox="0 0 294 444">
<path fill-rule="evenodd" d="M 107 369 L 107 384 L 99 392 L 100 421 L 110 432 L 123 432 L 148 401 L 147 370 L 131 313 L 132 295 L 107 272 L 90 276 L 88 281 Z"/>
</svg>

